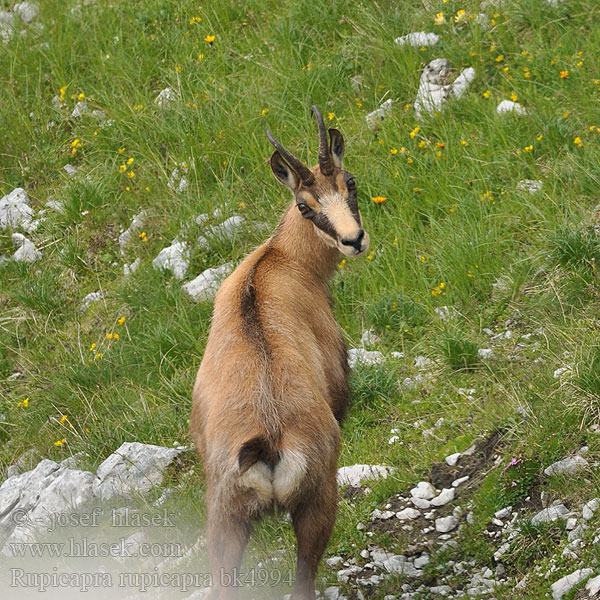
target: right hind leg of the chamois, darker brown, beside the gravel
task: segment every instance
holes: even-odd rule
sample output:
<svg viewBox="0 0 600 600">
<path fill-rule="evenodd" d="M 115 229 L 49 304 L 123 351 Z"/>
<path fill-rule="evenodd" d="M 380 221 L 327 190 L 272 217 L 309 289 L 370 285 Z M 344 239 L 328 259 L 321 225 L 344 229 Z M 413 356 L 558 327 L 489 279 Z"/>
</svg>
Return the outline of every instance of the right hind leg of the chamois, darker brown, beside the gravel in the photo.
<svg viewBox="0 0 600 600">
<path fill-rule="evenodd" d="M 296 583 L 290 600 L 314 600 L 317 567 L 331 537 L 337 510 L 335 475 L 308 492 L 291 511 L 298 542 Z"/>
</svg>

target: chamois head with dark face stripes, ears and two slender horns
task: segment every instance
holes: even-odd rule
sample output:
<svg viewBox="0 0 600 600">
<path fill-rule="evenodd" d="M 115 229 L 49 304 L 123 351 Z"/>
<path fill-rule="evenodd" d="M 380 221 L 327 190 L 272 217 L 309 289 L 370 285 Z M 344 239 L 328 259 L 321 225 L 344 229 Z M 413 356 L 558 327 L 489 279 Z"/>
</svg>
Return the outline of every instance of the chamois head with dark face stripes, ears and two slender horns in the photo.
<svg viewBox="0 0 600 600">
<path fill-rule="evenodd" d="M 276 148 L 271 169 L 294 194 L 298 210 L 312 221 L 318 235 L 342 254 L 358 256 L 369 247 L 369 234 L 362 228 L 356 182 L 342 166 L 344 138 L 337 129 L 330 129 L 328 143 L 319 109 L 313 106 L 312 112 L 319 126 L 319 164 L 309 169 L 267 130 Z"/>
</svg>

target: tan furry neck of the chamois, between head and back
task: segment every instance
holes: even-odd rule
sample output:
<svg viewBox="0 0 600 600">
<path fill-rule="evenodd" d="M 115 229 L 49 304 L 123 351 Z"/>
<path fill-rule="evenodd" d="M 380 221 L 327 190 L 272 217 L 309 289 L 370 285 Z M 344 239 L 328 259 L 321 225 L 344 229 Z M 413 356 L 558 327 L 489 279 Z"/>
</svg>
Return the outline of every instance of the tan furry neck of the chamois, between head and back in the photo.
<svg viewBox="0 0 600 600">
<path fill-rule="evenodd" d="M 302 217 L 295 201 L 279 221 L 271 246 L 323 284 L 329 281 L 340 259 L 339 250 L 321 238 L 310 219 Z"/>
</svg>

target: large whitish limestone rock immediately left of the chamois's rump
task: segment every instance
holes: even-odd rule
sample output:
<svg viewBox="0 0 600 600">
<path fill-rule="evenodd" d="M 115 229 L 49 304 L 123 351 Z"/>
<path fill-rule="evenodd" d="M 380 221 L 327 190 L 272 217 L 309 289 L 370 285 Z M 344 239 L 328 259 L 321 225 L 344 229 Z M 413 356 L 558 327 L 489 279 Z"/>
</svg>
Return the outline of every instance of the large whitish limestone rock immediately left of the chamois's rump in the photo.
<svg viewBox="0 0 600 600">
<path fill-rule="evenodd" d="M 98 467 L 94 493 L 102 500 L 144 494 L 162 483 L 165 469 L 181 452 L 182 448 L 124 442 Z"/>
</svg>

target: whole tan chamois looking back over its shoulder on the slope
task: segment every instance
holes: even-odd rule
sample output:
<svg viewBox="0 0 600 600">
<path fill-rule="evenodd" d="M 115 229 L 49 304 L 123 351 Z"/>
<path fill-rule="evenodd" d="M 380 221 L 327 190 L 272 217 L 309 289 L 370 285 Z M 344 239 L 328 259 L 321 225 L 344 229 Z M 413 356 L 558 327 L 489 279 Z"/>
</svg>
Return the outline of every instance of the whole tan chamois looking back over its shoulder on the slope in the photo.
<svg viewBox="0 0 600 600">
<path fill-rule="evenodd" d="M 348 361 L 328 281 L 340 253 L 363 254 L 356 183 L 344 138 L 312 107 L 319 164 L 308 168 L 270 133 L 275 177 L 294 200 L 273 235 L 223 282 L 193 392 L 190 432 L 206 476 L 211 599 L 235 597 L 253 521 L 289 511 L 298 543 L 291 598 L 313 600 L 337 508 Z"/>
</svg>

